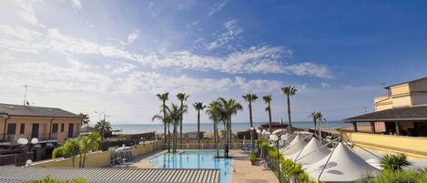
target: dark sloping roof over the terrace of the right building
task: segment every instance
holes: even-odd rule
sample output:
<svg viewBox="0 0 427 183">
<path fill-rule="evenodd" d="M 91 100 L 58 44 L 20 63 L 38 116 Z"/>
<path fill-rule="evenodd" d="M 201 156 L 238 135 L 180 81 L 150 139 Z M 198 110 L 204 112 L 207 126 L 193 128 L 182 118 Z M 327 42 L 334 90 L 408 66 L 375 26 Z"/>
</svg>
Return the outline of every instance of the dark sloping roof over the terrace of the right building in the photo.
<svg viewBox="0 0 427 183">
<path fill-rule="evenodd" d="M 404 121 L 424 120 L 427 121 L 427 106 L 418 107 L 396 107 L 381 110 L 365 115 L 344 119 L 348 122 L 370 122 L 370 121 Z"/>
</svg>

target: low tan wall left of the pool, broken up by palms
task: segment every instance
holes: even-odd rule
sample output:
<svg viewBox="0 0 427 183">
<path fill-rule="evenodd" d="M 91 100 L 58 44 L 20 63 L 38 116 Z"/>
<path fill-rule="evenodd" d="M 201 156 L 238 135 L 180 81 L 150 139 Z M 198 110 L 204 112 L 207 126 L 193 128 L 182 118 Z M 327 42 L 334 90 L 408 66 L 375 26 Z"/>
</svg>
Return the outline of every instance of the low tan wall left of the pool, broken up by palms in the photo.
<svg viewBox="0 0 427 183">
<path fill-rule="evenodd" d="M 147 153 L 151 153 L 159 149 L 158 142 L 147 142 L 146 144 L 134 146 L 132 155 L 138 157 Z M 85 168 L 107 168 L 110 167 L 111 158 L 116 152 L 114 150 L 97 151 L 86 155 Z M 79 157 L 76 157 L 75 167 L 78 168 Z M 37 161 L 30 164 L 30 167 L 36 168 L 72 168 L 73 161 L 71 158 L 56 158 L 44 161 Z"/>
</svg>

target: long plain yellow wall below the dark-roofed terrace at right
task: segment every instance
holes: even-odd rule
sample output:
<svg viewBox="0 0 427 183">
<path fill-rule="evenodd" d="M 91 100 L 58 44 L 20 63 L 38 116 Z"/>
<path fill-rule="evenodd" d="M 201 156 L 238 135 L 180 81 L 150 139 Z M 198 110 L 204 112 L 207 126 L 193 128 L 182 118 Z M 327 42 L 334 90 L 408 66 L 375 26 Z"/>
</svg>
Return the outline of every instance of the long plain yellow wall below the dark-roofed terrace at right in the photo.
<svg viewBox="0 0 427 183">
<path fill-rule="evenodd" d="M 350 141 L 353 144 L 363 147 L 404 153 L 414 157 L 427 156 L 427 138 L 425 137 L 398 137 L 350 131 L 341 131 L 341 136 L 343 140 Z"/>
</svg>

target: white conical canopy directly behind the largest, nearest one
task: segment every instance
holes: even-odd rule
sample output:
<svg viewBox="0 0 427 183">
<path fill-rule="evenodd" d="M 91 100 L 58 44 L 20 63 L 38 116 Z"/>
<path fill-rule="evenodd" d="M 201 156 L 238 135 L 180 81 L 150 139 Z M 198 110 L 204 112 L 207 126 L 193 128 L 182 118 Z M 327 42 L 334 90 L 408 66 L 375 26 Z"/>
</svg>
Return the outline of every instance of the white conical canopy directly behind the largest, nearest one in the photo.
<svg viewBox="0 0 427 183">
<path fill-rule="evenodd" d="M 307 146 L 288 156 L 298 164 L 306 165 L 319 161 L 330 154 L 330 149 L 323 146 L 319 139 L 312 137 Z"/>
</svg>

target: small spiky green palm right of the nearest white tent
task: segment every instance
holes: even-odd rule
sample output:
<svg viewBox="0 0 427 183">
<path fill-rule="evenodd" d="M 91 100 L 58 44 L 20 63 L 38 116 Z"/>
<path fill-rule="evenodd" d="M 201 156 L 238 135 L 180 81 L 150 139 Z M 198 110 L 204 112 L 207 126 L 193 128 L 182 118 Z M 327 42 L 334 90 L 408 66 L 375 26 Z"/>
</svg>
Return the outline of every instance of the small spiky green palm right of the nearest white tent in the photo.
<svg viewBox="0 0 427 183">
<path fill-rule="evenodd" d="M 391 169 L 393 171 L 401 170 L 403 167 L 410 166 L 411 163 L 405 154 L 389 155 L 386 154 L 380 159 L 381 168 Z"/>
</svg>

